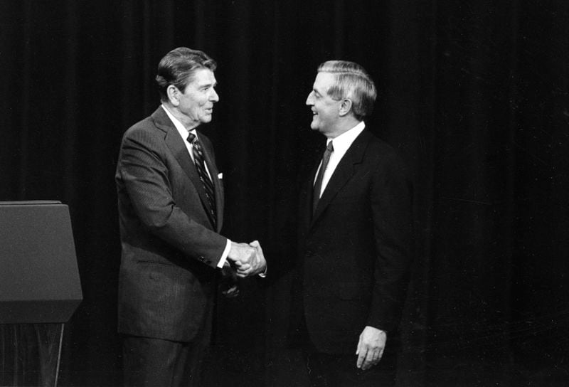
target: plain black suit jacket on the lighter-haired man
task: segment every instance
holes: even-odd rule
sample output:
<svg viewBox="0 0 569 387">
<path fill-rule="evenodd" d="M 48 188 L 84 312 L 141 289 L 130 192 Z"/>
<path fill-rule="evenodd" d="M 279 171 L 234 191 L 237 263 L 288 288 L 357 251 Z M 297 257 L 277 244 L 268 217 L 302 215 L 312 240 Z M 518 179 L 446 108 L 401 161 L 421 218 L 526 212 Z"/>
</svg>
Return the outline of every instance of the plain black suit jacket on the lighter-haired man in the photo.
<svg viewBox="0 0 569 387">
<path fill-rule="evenodd" d="M 312 343 L 353 354 L 366 325 L 393 332 L 412 248 L 412 187 L 395 151 L 364 130 L 331 176 L 312 216 L 318 163 L 301 189 L 299 272 Z"/>
</svg>

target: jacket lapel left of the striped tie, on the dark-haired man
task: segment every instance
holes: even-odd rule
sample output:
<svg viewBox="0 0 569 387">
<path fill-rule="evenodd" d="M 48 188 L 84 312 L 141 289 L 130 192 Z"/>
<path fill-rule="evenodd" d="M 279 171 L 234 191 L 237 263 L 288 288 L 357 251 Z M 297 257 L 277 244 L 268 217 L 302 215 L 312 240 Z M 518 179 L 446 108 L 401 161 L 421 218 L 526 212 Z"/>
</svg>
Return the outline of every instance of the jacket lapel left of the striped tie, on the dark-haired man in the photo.
<svg viewBox="0 0 569 387">
<path fill-rule="evenodd" d="M 198 175 L 196 166 L 193 164 L 191 157 L 188 154 L 188 149 L 186 148 L 186 144 L 184 144 L 184 139 L 181 138 L 178 130 L 176 127 L 174 127 L 174 124 L 171 122 L 168 115 L 166 115 L 166 112 L 164 112 L 164 109 L 162 107 L 158 107 L 158 109 L 156 109 L 156 111 L 152 114 L 152 118 L 154 119 L 156 127 L 166 132 L 166 137 L 164 139 L 166 145 L 169 147 L 172 154 L 174 154 L 174 157 L 176 157 L 176 160 L 179 162 L 181 168 L 184 170 L 193 186 L 196 187 L 196 191 L 198 191 L 198 196 L 200 197 L 201 203 L 204 208 L 206 208 L 206 213 L 209 214 L 210 211 L 208 197 L 206 196 L 206 191 L 203 189 L 203 184 L 201 184 L 200 176 Z M 210 164 L 208 164 L 208 168 L 209 165 Z"/>
</svg>

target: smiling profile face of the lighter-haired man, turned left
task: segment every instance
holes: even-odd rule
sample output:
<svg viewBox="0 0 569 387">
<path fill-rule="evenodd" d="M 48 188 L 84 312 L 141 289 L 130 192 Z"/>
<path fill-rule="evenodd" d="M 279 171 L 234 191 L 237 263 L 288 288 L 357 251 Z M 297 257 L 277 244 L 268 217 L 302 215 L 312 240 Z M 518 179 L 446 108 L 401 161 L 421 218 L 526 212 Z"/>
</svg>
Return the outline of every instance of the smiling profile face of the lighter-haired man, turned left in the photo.
<svg viewBox="0 0 569 387">
<path fill-rule="evenodd" d="M 326 137 L 334 137 L 340 119 L 340 100 L 333 100 L 328 90 L 336 83 L 331 73 L 318 73 L 312 92 L 308 95 L 307 105 L 312 109 L 312 122 L 310 127 L 324 134 Z"/>
</svg>

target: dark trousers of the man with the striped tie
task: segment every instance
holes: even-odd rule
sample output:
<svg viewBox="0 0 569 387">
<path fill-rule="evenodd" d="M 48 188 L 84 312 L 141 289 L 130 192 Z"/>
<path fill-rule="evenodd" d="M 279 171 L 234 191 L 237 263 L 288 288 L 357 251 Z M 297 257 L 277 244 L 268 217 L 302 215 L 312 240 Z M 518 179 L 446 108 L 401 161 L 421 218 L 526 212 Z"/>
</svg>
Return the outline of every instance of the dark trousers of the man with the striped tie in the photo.
<svg viewBox="0 0 569 387">
<path fill-rule="evenodd" d="M 208 340 L 189 343 L 124 336 L 124 386 L 200 386 Z"/>
</svg>

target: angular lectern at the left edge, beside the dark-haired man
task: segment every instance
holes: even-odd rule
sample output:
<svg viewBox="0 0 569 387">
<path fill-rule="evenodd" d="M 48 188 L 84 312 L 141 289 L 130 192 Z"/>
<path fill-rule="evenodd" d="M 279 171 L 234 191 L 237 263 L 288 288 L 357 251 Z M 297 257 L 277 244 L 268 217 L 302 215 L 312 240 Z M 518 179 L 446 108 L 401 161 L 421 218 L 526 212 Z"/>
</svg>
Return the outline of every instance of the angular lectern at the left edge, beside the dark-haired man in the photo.
<svg viewBox="0 0 569 387">
<path fill-rule="evenodd" d="M 0 324 L 60 324 L 83 300 L 68 206 L 0 202 Z"/>
</svg>

